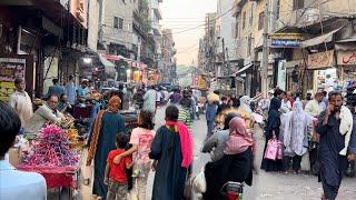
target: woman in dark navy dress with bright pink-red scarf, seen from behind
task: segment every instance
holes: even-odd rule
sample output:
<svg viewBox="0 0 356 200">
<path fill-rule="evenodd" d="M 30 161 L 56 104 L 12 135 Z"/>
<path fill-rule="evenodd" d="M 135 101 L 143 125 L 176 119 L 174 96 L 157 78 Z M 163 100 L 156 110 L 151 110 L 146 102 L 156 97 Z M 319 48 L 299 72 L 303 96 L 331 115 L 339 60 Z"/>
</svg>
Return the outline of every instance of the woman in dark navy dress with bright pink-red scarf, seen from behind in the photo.
<svg viewBox="0 0 356 200">
<path fill-rule="evenodd" d="M 184 123 L 178 122 L 179 110 L 166 109 L 166 124 L 157 130 L 149 158 L 156 170 L 152 200 L 184 199 L 188 168 L 192 161 L 192 138 Z"/>
</svg>

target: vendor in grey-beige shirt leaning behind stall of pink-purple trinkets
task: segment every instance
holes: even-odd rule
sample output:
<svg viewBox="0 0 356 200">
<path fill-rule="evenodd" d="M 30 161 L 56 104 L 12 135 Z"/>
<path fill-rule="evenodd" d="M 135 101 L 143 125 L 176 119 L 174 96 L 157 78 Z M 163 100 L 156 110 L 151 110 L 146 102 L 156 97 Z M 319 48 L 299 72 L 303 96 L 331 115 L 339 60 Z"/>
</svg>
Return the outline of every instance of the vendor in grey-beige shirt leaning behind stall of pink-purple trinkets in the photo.
<svg viewBox="0 0 356 200">
<path fill-rule="evenodd" d="M 57 106 L 58 97 L 51 94 L 47 102 L 36 110 L 24 129 L 38 133 L 46 123 L 60 123 L 63 114 L 57 110 Z"/>
</svg>

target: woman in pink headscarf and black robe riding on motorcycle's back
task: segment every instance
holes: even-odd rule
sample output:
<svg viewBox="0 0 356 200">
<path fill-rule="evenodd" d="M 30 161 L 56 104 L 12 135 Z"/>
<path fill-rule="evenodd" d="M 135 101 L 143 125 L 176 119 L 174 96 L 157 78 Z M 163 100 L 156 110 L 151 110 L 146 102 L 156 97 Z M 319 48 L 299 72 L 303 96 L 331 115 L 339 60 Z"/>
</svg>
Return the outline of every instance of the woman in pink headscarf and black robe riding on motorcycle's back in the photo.
<svg viewBox="0 0 356 200">
<path fill-rule="evenodd" d="M 204 200 L 222 199 L 221 187 L 228 182 L 253 183 L 253 146 L 251 136 L 245 128 L 244 119 L 235 117 L 229 121 L 229 136 L 224 157 L 205 167 L 207 190 Z"/>
</svg>

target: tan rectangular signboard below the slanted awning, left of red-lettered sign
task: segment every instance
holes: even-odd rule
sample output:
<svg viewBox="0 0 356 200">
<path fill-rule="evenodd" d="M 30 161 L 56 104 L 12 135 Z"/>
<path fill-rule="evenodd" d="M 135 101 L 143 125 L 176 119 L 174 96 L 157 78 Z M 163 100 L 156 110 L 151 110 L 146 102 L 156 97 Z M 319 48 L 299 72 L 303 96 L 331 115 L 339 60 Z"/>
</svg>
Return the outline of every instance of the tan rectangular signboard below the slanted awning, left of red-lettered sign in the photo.
<svg viewBox="0 0 356 200">
<path fill-rule="evenodd" d="M 308 69 L 325 69 L 334 66 L 334 50 L 313 53 L 308 56 Z"/>
</svg>

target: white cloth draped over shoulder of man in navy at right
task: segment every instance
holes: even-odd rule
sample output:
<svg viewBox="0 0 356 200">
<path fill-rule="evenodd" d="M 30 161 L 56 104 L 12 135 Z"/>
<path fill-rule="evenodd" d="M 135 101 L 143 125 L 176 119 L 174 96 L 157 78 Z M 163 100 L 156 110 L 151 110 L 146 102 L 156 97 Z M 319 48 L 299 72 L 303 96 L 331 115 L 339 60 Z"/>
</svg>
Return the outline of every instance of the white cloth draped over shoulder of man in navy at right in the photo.
<svg viewBox="0 0 356 200">
<path fill-rule="evenodd" d="M 345 106 L 340 109 L 340 120 L 339 131 L 340 134 L 345 136 L 345 148 L 339 152 L 339 154 L 346 156 L 353 132 L 354 118 L 352 111 Z"/>
</svg>

